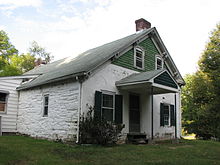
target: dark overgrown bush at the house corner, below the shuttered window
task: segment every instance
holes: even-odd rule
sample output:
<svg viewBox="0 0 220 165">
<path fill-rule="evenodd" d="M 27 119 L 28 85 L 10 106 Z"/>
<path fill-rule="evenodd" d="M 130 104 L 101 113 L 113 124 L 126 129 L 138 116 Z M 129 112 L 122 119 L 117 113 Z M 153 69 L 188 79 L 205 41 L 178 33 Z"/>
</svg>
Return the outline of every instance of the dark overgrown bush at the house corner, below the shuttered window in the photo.
<svg viewBox="0 0 220 165">
<path fill-rule="evenodd" d="M 92 107 L 86 115 L 81 116 L 79 127 L 80 143 L 101 145 L 115 144 L 123 129 L 122 124 L 94 118 Z"/>
</svg>

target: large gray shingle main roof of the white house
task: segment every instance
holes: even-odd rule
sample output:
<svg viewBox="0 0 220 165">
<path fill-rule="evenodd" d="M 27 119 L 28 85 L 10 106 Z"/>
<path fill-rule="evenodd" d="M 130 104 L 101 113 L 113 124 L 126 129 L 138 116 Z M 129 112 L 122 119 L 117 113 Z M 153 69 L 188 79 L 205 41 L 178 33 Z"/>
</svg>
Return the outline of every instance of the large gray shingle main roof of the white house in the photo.
<svg viewBox="0 0 220 165">
<path fill-rule="evenodd" d="M 116 53 L 123 51 L 123 49 L 132 45 L 134 42 L 150 33 L 153 29 L 154 28 L 146 29 L 139 33 L 87 50 L 84 53 L 79 54 L 77 57 L 68 57 L 37 67 L 24 75 L 39 74 L 39 76 L 28 83 L 22 84 L 18 87 L 18 90 L 86 73 L 109 60 Z"/>
</svg>

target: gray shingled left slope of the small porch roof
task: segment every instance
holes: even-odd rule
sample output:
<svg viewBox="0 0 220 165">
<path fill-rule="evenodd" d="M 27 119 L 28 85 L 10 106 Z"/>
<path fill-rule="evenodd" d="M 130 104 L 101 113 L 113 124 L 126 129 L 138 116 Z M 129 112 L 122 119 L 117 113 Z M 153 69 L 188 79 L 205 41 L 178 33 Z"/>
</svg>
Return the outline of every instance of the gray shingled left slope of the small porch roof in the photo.
<svg viewBox="0 0 220 165">
<path fill-rule="evenodd" d="M 147 72 L 141 72 L 141 73 L 133 73 L 130 76 L 127 76 L 120 81 L 116 82 L 116 86 L 123 86 L 125 84 L 132 84 L 132 83 L 141 83 L 141 82 L 147 82 L 150 81 L 152 78 L 156 77 L 157 75 L 164 72 L 165 69 L 160 70 L 153 70 L 153 71 L 147 71 Z"/>
</svg>

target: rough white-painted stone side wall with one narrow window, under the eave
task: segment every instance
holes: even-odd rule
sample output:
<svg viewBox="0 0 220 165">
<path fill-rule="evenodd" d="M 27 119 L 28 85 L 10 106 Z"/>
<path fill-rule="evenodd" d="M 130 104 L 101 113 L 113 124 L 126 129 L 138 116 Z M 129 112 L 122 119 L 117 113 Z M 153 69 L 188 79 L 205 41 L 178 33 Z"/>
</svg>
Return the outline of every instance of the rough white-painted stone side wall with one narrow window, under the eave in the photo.
<svg viewBox="0 0 220 165">
<path fill-rule="evenodd" d="M 43 98 L 49 95 L 48 116 Z M 18 131 L 33 137 L 75 140 L 79 107 L 79 83 L 68 80 L 20 91 Z"/>
</svg>

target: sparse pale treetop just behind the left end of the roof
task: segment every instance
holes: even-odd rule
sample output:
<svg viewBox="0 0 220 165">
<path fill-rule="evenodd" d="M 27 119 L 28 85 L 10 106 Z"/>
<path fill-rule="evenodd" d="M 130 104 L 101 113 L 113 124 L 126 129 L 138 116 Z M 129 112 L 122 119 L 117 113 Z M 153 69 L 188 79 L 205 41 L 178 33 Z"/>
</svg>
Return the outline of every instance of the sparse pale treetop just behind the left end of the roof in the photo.
<svg viewBox="0 0 220 165">
<path fill-rule="evenodd" d="M 33 41 L 31 43 L 29 53 L 36 59 L 40 58 L 44 60 L 46 63 L 49 63 L 53 59 L 53 56 L 50 53 L 48 53 L 45 48 L 39 46 L 36 41 Z"/>
</svg>

